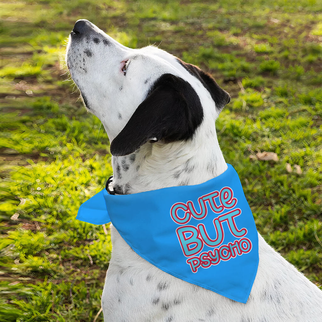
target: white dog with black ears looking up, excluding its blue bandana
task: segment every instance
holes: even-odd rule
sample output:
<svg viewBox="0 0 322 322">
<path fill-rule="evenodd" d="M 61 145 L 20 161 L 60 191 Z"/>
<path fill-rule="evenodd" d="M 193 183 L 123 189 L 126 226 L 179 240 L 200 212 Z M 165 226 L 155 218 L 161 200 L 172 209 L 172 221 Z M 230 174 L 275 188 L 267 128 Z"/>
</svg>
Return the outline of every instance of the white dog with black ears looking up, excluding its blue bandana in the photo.
<svg viewBox="0 0 322 322">
<path fill-rule="evenodd" d="M 230 96 L 210 74 L 155 46 L 125 47 L 84 19 L 71 32 L 66 62 L 109 136 L 118 194 L 196 185 L 226 170 L 215 120 Z M 322 292 L 260 234 L 258 271 L 243 304 L 159 270 L 110 229 L 104 321 L 322 321 Z"/>
</svg>

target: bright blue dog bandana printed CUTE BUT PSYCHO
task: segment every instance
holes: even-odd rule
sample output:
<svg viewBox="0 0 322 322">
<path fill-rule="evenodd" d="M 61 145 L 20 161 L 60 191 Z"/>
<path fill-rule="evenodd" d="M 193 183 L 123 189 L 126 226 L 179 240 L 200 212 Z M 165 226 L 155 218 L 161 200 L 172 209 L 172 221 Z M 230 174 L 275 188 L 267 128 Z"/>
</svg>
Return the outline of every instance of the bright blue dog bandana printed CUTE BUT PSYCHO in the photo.
<svg viewBox="0 0 322 322">
<path fill-rule="evenodd" d="M 111 222 L 142 258 L 179 279 L 246 303 L 258 267 L 258 235 L 235 169 L 200 185 L 113 195 L 83 203 L 77 219 Z"/>
</svg>

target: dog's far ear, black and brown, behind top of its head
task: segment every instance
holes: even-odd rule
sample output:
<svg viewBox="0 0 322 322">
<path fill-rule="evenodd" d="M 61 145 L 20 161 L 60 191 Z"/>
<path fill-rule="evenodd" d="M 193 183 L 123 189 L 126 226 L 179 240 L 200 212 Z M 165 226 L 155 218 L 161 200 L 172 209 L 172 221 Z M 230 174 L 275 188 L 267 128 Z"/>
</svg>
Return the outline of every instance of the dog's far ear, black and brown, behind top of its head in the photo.
<svg viewBox="0 0 322 322">
<path fill-rule="evenodd" d="M 198 66 L 183 62 L 179 58 L 177 58 L 177 61 L 187 71 L 189 71 L 190 74 L 194 75 L 199 81 L 202 82 L 214 100 L 218 113 L 220 113 L 224 106 L 230 102 L 230 95 L 217 84 L 209 73 L 201 70 Z"/>
</svg>

